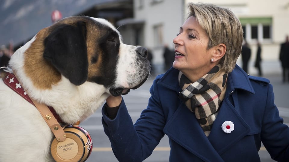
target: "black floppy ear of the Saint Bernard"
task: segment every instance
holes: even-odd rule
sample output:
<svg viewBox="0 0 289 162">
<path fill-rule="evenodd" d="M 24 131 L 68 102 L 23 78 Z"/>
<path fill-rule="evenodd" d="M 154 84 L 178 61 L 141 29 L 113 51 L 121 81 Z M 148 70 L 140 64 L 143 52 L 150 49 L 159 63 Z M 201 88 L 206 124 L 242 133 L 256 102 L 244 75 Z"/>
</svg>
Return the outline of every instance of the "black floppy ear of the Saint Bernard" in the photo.
<svg viewBox="0 0 289 162">
<path fill-rule="evenodd" d="M 44 47 L 44 58 L 71 83 L 81 85 L 86 81 L 88 60 L 85 22 L 56 26 L 45 38 Z"/>
</svg>

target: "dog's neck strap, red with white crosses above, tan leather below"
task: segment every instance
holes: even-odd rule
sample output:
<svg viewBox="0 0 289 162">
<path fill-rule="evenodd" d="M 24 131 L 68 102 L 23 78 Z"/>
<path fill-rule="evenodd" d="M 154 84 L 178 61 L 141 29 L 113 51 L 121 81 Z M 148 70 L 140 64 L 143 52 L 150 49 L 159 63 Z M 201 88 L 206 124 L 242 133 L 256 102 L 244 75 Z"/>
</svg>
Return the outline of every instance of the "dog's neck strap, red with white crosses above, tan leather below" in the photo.
<svg viewBox="0 0 289 162">
<path fill-rule="evenodd" d="M 55 118 L 54 114 L 51 112 L 51 109 L 49 109 L 44 104 L 39 104 L 38 102 L 33 101 L 27 95 L 26 91 L 23 89 L 23 87 L 21 86 L 20 82 L 18 81 L 18 79 L 17 79 L 17 77 L 15 75 L 13 75 L 12 73 L 6 72 L 6 75 L 3 78 L 3 82 L 8 87 L 13 89 L 18 95 L 22 96 L 24 99 L 26 99 L 28 102 L 33 104 L 38 109 L 38 111 L 40 112 L 41 116 L 43 117 L 43 119 L 45 120 L 47 125 L 50 127 L 52 133 L 56 137 L 57 141 L 62 142 L 62 141 L 64 141 L 66 139 L 66 135 L 64 133 L 64 130 L 61 127 L 61 125 L 57 122 L 57 119 Z"/>
</svg>

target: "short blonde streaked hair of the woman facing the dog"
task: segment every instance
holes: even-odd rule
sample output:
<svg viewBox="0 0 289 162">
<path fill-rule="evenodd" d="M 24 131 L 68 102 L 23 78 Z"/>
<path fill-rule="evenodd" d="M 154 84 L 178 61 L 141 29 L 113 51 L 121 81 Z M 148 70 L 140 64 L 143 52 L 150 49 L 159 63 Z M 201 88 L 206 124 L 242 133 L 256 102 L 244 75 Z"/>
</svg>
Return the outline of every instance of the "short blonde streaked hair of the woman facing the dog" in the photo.
<svg viewBox="0 0 289 162">
<path fill-rule="evenodd" d="M 194 16 L 209 37 L 207 49 L 221 43 L 226 45 L 220 64 L 222 70 L 232 72 L 242 49 L 243 29 L 239 19 L 231 10 L 214 4 L 189 3 L 188 9 L 187 18 Z"/>
</svg>

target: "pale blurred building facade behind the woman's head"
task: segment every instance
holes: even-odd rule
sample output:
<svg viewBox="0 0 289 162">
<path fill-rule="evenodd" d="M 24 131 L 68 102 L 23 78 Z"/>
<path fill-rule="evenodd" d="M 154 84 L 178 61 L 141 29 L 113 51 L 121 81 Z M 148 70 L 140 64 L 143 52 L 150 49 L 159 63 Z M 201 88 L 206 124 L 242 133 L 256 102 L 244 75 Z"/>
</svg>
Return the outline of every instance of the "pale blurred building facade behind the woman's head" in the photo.
<svg viewBox="0 0 289 162">
<path fill-rule="evenodd" d="M 145 46 L 153 52 L 153 63 L 163 64 L 163 46 L 173 49 L 173 38 L 188 13 L 187 4 L 199 0 L 134 0 L 134 18 L 120 28 L 128 44 Z M 256 43 L 262 46 L 263 61 L 278 61 L 280 44 L 289 35 L 288 0 L 202 0 L 231 9 L 240 19 L 244 39 L 250 44 L 251 62 Z M 119 24 L 120 25 L 120 24 Z M 133 34 L 128 34 L 133 33 Z M 237 63 L 240 63 L 240 59 Z M 157 66 L 156 66 L 157 67 Z"/>
</svg>

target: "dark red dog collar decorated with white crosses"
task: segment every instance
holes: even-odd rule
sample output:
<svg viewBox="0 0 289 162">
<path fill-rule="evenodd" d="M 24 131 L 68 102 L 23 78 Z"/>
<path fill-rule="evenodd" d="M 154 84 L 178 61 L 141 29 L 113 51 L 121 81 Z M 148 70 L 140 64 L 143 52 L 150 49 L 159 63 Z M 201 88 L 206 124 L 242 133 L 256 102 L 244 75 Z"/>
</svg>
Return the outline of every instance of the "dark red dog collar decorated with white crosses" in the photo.
<svg viewBox="0 0 289 162">
<path fill-rule="evenodd" d="M 20 85 L 18 79 L 12 74 L 12 73 L 8 73 L 6 72 L 6 75 L 3 79 L 4 83 L 10 87 L 11 89 L 13 89 L 18 95 L 20 95 L 21 97 L 23 97 L 24 99 L 26 99 L 28 102 L 30 102 L 30 104 L 34 105 L 31 98 L 27 95 L 26 91 L 23 89 L 23 87 Z M 35 105 L 34 105 L 35 106 Z M 49 110 L 51 111 L 51 113 L 54 115 L 54 117 L 57 119 L 57 122 L 61 122 L 64 123 L 60 117 L 58 116 L 58 114 L 55 112 L 55 110 L 53 109 L 53 107 L 48 106 Z"/>
</svg>

